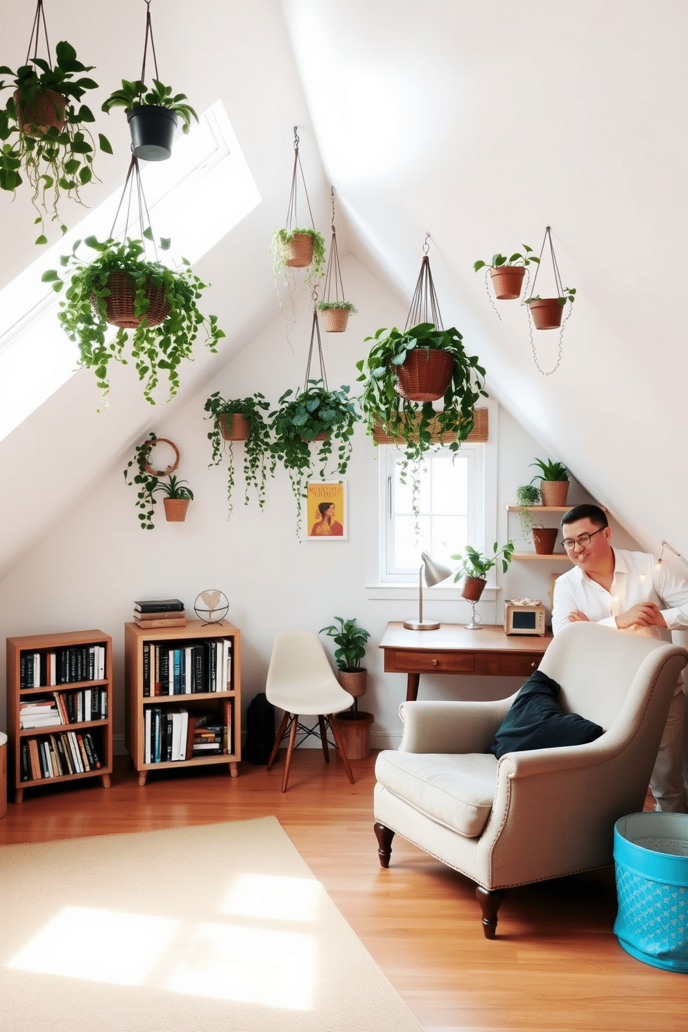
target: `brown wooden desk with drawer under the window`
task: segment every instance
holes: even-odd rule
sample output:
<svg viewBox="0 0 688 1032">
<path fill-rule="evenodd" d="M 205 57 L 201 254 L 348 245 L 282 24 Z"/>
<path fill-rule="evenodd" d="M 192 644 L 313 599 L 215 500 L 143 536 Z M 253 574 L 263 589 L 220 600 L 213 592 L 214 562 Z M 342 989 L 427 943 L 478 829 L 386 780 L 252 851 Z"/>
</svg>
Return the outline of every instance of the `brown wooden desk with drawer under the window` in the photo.
<svg viewBox="0 0 688 1032">
<path fill-rule="evenodd" d="M 479 674 L 529 677 L 552 635 L 506 635 L 496 624 L 467 631 L 460 623 L 443 623 L 438 631 L 408 631 L 388 623 L 380 648 L 385 672 L 407 674 L 406 701 L 418 698 L 421 674 Z"/>
</svg>

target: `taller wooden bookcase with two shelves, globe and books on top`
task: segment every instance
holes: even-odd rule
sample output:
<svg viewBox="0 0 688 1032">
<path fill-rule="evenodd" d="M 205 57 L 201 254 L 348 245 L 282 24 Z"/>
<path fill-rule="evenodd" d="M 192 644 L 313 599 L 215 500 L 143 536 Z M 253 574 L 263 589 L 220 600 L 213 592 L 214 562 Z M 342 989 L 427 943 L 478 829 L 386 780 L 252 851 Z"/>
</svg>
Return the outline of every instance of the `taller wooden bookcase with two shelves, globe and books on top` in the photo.
<svg viewBox="0 0 688 1032">
<path fill-rule="evenodd" d="M 148 679 L 151 695 L 144 695 L 144 647 L 149 646 L 149 663 L 152 662 L 151 650 L 156 645 L 178 646 L 185 648 L 187 642 L 203 642 L 216 639 L 227 639 L 230 643 L 230 684 L 229 690 L 221 691 L 183 691 L 177 695 L 154 695 L 153 678 Z M 241 682 L 240 682 L 240 633 L 227 620 L 217 623 L 204 623 L 202 620 L 189 620 L 184 627 L 141 627 L 136 622 L 125 623 L 124 627 L 126 700 L 127 700 L 127 749 L 135 769 L 138 771 L 138 783 L 145 784 L 149 771 L 161 771 L 179 767 L 198 767 L 204 764 L 227 764 L 232 777 L 237 776 L 237 763 L 241 759 Z M 145 712 L 151 707 L 160 707 L 163 712 L 168 709 L 188 710 L 190 715 L 210 711 L 218 714 L 222 721 L 227 701 L 232 700 L 232 728 L 228 735 L 233 743 L 231 752 L 222 752 L 207 756 L 195 755 L 187 760 L 145 762 Z"/>
</svg>

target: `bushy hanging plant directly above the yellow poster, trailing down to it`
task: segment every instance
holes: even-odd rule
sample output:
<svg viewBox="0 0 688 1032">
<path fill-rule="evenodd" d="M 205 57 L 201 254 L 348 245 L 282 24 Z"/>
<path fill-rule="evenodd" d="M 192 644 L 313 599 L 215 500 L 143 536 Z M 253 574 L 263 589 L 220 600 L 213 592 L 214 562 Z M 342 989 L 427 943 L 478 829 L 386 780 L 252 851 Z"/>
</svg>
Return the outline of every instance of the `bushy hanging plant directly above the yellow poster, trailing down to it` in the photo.
<svg viewBox="0 0 688 1032">
<path fill-rule="evenodd" d="M 301 499 L 305 496 L 305 483 L 320 465 L 321 479 L 331 463 L 339 476 L 349 465 L 354 428 L 360 416 L 356 405 L 349 397 L 349 387 L 331 391 L 322 380 L 307 380 L 302 391 L 296 394 L 286 390 L 277 408 L 269 414 L 272 434 L 270 453 L 275 462 L 282 462 L 289 473 L 294 497 L 297 501 L 297 531 L 301 527 Z M 317 441 L 317 452 L 312 443 Z M 336 455 L 333 445 L 337 444 Z"/>
</svg>

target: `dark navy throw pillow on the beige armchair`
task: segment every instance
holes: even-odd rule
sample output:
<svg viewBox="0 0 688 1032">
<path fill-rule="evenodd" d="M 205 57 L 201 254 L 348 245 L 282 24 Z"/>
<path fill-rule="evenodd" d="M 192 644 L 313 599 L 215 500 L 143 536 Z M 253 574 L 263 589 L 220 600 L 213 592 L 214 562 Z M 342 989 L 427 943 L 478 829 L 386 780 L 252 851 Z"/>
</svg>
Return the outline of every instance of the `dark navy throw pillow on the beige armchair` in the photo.
<svg viewBox="0 0 688 1032">
<path fill-rule="evenodd" d="M 604 729 L 579 713 L 565 713 L 556 681 L 536 670 L 522 686 L 490 746 L 497 757 L 505 752 L 548 749 L 594 742 Z"/>
</svg>

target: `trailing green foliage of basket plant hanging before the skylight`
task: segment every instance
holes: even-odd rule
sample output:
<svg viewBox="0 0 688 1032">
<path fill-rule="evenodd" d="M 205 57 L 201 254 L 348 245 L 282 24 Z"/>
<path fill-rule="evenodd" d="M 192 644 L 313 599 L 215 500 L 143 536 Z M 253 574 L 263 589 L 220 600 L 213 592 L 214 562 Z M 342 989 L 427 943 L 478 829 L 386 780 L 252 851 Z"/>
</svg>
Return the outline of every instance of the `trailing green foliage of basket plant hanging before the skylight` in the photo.
<svg viewBox="0 0 688 1032">
<path fill-rule="evenodd" d="M 153 238 L 148 229 L 143 235 Z M 169 243 L 161 240 L 161 249 L 169 248 Z M 201 329 L 205 330 L 205 344 L 211 352 L 217 351 L 218 342 L 225 335 L 218 326 L 218 317 L 206 317 L 198 308 L 197 301 L 207 284 L 194 275 L 186 258 L 179 269 L 151 261 L 140 239 L 128 237 L 122 243 L 110 237 L 101 243 L 95 236 L 87 236 L 84 244 L 93 252 L 92 256 L 77 254 L 81 240 L 76 240 L 72 253 L 60 258 L 63 268 L 71 270 L 62 273 L 64 279 L 55 269 L 42 276 L 43 282 L 53 283 L 56 291 L 61 291 L 67 282 L 58 319 L 69 340 L 78 344 L 79 365 L 94 370 L 105 397 L 109 391 L 109 362 L 126 365 L 133 361 L 138 379 L 144 381 L 145 400 L 156 404 L 153 392 L 161 374 L 167 378 L 169 394 L 165 400 L 169 400 L 179 387 L 178 366 L 185 358 L 191 358 Z M 134 285 L 134 312 L 140 321 L 134 329 L 119 327 L 110 338 L 106 299 L 110 294 L 110 275 L 118 271 L 126 272 Z M 170 311 L 162 323 L 151 326 L 146 312 L 151 305 L 150 291 L 155 288 L 164 289 Z"/>
</svg>

